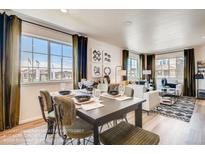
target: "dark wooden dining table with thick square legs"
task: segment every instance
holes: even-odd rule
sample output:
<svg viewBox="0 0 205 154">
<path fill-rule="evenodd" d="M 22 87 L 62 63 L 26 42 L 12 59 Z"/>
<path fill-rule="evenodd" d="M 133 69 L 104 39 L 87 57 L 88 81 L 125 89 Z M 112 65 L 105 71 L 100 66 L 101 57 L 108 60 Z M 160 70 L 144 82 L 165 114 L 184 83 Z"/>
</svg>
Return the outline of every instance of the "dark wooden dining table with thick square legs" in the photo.
<svg viewBox="0 0 205 154">
<path fill-rule="evenodd" d="M 145 99 L 133 97 L 128 100 L 119 101 L 103 96 L 100 96 L 99 99 L 103 107 L 91 110 L 76 108 L 76 115 L 93 126 L 95 145 L 100 144 L 99 126 L 115 121 L 129 112 L 134 111 L 135 126 L 142 128 L 142 103 L 146 101 Z"/>
</svg>

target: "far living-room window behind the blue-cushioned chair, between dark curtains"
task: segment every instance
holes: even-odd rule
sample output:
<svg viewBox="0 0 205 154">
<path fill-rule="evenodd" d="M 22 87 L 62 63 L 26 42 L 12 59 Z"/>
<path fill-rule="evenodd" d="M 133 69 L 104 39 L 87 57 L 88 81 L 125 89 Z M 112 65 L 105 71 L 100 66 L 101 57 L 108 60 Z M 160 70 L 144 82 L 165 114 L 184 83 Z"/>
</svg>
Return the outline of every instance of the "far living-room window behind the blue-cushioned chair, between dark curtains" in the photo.
<svg viewBox="0 0 205 154">
<path fill-rule="evenodd" d="M 180 54 L 180 53 L 179 53 Z M 167 78 L 168 82 L 183 83 L 184 57 L 165 55 L 156 59 L 157 87 L 161 87 L 161 79 Z"/>
</svg>

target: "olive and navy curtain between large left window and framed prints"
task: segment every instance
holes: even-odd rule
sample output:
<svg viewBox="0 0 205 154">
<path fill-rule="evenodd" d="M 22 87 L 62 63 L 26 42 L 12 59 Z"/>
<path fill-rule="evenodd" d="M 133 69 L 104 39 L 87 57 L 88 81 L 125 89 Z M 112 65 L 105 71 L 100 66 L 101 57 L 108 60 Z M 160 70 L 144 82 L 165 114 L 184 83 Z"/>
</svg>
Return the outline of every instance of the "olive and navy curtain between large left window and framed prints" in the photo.
<svg viewBox="0 0 205 154">
<path fill-rule="evenodd" d="M 87 42 L 84 36 L 73 35 L 73 88 L 78 82 L 87 78 Z"/>
</svg>

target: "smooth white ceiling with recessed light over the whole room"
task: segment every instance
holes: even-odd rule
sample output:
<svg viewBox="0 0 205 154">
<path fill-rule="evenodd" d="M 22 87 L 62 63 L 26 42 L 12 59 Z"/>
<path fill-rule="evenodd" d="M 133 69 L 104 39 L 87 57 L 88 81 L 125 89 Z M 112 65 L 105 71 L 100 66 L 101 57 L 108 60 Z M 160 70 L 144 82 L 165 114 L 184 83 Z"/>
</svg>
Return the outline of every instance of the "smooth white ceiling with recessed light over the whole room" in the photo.
<svg viewBox="0 0 205 154">
<path fill-rule="evenodd" d="M 205 43 L 205 10 L 15 11 L 141 53 Z"/>
</svg>

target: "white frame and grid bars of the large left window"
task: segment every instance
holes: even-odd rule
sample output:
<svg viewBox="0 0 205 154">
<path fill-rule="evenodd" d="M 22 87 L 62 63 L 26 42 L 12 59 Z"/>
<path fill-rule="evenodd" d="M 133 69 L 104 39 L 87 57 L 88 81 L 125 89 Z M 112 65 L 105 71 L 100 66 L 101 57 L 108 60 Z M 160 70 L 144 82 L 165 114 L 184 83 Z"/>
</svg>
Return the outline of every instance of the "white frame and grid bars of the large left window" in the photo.
<svg viewBox="0 0 205 154">
<path fill-rule="evenodd" d="M 71 63 L 72 63 L 71 70 L 73 72 L 73 53 L 72 53 L 72 57 L 68 57 L 68 56 L 63 55 L 63 46 L 69 46 L 72 49 L 73 48 L 72 43 L 63 42 L 63 41 L 59 41 L 59 40 L 54 40 L 54 39 L 50 39 L 50 38 L 47 38 L 47 37 L 36 36 L 36 35 L 33 35 L 33 34 L 28 34 L 28 33 L 22 33 L 21 37 L 23 37 L 23 36 L 29 37 L 29 38 L 32 39 L 32 51 L 24 51 L 24 50 L 22 50 L 22 47 L 20 47 L 20 53 L 26 52 L 26 53 L 31 53 L 32 54 L 32 59 L 31 59 L 32 60 L 32 67 L 31 67 L 32 72 L 33 72 L 33 68 L 35 68 L 34 64 L 33 64 L 34 54 L 41 54 L 41 55 L 47 55 L 48 56 L 47 67 L 41 67 L 41 68 L 47 68 L 48 69 L 48 80 L 47 81 L 37 81 L 37 82 L 35 82 L 33 80 L 33 75 L 32 75 L 31 81 L 23 82 L 21 80 L 21 85 L 40 84 L 40 83 L 46 84 L 46 83 L 62 83 L 62 82 L 69 82 L 70 83 L 70 82 L 73 82 L 73 78 L 71 78 L 71 79 L 62 79 L 62 75 L 63 75 L 63 72 L 62 72 L 63 71 L 63 58 L 70 58 L 71 59 Z M 33 39 L 41 39 L 41 40 L 47 41 L 48 42 L 47 43 L 48 44 L 48 48 L 47 48 L 48 53 L 45 54 L 45 53 L 40 53 L 40 52 L 34 52 L 34 44 L 33 44 L 34 41 L 33 41 Z M 61 57 L 61 67 L 59 68 L 61 70 L 61 79 L 60 80 L 57 80 L 57 79 L 51 80 L 51 55 L 52 55 L 51 54 L 51 45 L 50 45 L 51 43 L 56 43 L 56 44 L 61 45 L 61 52 L 62 53 L 61 53 L 61 56 L 59 56 L 59 57 Z M 25 67 L 21 66 L 21 62 L 22 61 L 20 61 L 20 69 L 25 68 Z M 68 68 L 65 68 L 65 69 L 68 69 Z"/>
</svg>

